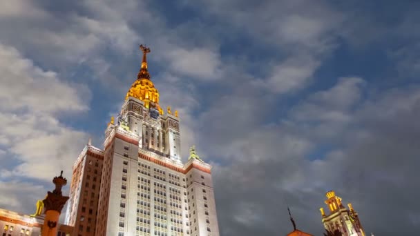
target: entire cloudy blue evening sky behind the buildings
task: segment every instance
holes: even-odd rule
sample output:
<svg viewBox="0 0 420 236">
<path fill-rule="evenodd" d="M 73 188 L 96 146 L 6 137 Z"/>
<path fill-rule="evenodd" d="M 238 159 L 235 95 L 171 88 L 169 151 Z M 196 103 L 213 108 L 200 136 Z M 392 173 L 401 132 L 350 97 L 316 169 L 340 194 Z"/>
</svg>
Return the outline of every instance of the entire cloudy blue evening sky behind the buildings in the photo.
<svg viewBox="0 0 420 236">
<path fill-rule="evenodd" d="M 195 144 L 213 165 L 221 235 L 284 235 L 287 206 L 320 235 L 331 189 L 367 232 L 419 232 L 419 7 L 1 1 L 0 208 L 31 213 L 89 137 L 102 146 L 143 43 L 184 159 Z"/>
</svg>

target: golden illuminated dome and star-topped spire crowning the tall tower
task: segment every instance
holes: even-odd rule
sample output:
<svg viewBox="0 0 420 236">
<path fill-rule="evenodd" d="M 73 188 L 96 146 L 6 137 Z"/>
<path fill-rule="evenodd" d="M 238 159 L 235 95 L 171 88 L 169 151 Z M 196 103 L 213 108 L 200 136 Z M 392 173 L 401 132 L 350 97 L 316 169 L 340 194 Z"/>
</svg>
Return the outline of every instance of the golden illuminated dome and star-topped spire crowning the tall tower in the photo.
<svg viewBox="0 0 420 236">
<path fill-rule="evenodd" d="M 146 54 L 150 52 L 150 48 L 140 45 L 140 50 L 143 51 L 142 67 L 137 75 L 137 79 L 128 90 L 126 99 L 128 97 L 140 99 L 144 101 L 146 108 L 153 107 L 159 110 L 160 115 L 163 115 L 163 110 L 159 106 L 159 92 L 150 80 L 149 71 L 147 70 Z"/>
</svg>

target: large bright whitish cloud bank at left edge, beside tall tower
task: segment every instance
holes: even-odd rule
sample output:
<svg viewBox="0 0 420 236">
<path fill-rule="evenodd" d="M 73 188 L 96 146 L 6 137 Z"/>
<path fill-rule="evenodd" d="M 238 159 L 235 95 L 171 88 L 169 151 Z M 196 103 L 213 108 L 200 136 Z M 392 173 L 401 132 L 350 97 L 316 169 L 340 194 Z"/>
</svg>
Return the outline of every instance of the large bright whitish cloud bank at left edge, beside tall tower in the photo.
<svg viewBox="0 0 420 236">
<path fill-rule="evenodd" d="M 11 175 L 50 180 L 61 169 L 70 175 L 87 135 L 57 117 L 88 110 L 88 88 L 63 82 L 1 44 L 0 73 L 1 144 L 19 163 Z"/>
</svg>

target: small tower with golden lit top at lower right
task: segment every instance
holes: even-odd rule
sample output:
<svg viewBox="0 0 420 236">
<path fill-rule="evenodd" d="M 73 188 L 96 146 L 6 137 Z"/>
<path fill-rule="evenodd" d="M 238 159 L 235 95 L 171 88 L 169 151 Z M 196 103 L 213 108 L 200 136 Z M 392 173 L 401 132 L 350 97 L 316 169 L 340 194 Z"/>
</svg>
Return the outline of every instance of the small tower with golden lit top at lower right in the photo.
<svg viewBox="0 0 420 236">
<path fill-rule="evenodd" d="M 330 209 L 330 215 L 325 214 L 324 208 L 319 209 L 325 229 L 331 233 L 339 230 L 343 236 L 365 236 L 359 216 L 352 204 L 347 204 L 349 209 L 346 209 L 334 191 L 328 192 L 326 196 L 325 204 Z"/>
</svg>

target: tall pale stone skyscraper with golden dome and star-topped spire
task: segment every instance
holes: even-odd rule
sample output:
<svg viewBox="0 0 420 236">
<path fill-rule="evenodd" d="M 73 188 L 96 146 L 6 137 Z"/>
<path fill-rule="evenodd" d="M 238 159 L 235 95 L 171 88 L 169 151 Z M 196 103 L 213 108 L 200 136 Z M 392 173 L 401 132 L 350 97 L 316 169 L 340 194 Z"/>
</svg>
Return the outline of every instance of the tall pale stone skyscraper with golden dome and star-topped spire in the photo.
<svg viewBox="0 0 420 236">
<path fill-rule="evenodd" d="M 99 195 L 93 193 L 95 197 L 90 198 L 93 204 L 97 199 L 95 233 L 75 227 L 81 229 L 75 235 L 218 236 L 211 166 L 194 147 L 182 164 L 178 111 L 168 107 L 164 114 L 147 68 L 146 55 L 151 50 L 144 46 L 140 50 L 140 72 L 120 114 L 108 123 L 104 150 L 87 146 L 73 167 L 75 186 L 72 181 L 70 199 L 74 200 L 68 207 L 68 224 L 82 225 L 80 217 L 86 219 L 81 210 L 84 204 L 79 206 L 88 175 L 86 161 L 77 166 L 95 150 L 102 165 Z"/>
</svg>

